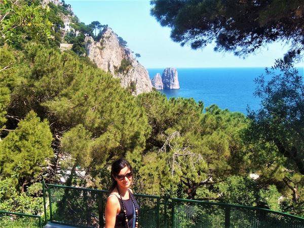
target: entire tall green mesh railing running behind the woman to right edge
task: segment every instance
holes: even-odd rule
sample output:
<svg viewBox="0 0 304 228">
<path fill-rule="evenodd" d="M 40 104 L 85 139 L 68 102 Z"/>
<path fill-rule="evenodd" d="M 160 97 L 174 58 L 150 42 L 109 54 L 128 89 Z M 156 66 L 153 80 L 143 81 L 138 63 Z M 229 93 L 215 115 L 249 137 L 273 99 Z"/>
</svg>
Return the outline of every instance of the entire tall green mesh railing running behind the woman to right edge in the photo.
<svg viewBox="0 0 304 228">
<path fill-rule="evenodd" d="M 49 220 L 78 227 L 104 227 L 108 191 L 43 184 Z M 135 194 L 140 227 L 290 227 L 304 228 L 304 218 L 263 208 Z M 45 217 L 47 210 L 45 206 Z"/>
</svg>

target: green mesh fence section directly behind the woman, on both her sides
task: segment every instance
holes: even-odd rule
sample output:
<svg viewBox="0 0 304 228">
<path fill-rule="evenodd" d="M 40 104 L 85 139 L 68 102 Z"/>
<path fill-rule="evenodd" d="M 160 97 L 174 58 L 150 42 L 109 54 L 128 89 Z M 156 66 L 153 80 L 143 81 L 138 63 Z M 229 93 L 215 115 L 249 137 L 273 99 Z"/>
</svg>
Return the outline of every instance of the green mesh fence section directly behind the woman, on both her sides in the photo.
<svg viewBox="0 0 304 228">
<path fill-rule="evenodd" d="M 104 227 L 108 191 L 47 184 L 50 221 L 79 227 Z M 160 197 L 135 194 L 141 227 L 159 226 Z"/>
</svg>

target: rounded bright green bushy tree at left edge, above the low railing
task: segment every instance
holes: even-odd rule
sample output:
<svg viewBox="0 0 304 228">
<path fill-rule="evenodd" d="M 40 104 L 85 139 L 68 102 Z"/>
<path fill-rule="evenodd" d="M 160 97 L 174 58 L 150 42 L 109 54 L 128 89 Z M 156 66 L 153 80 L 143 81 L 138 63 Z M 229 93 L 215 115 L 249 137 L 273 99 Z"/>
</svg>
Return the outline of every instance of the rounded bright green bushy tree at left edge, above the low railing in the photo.
<svg viewBox="0 0 304 228">
<path fill-rule="evenodd" d="M 30 111 L 18 127 L 0 142 L 2 176 L 11 176 L 18 170 L 19 184 L 24 187 L 39 175 L 46 165 L 45 159 L 53 155 L 51 149 L 52 134 L 48 121 Z"/>
</svg>

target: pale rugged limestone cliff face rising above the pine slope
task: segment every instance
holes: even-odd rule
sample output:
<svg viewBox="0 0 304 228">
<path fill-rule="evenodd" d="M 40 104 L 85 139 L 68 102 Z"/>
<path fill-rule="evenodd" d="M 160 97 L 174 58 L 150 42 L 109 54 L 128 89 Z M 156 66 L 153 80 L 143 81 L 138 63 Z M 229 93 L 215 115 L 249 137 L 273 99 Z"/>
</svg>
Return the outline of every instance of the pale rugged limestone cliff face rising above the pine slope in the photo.
<svg viewBox="0 0 304 228">
<path fill-rule="evenodd" d="M 130 49 L 119 43 L 117 34 L 109 27 L 103 29 L 99 42 L 87 36 L 85 48 L 91 61 L 114 77 L 120 78 L 124 88 L 135 86 L 134 95 L 152 91 L 147 70 L 134 58 Z"/>
</svg>

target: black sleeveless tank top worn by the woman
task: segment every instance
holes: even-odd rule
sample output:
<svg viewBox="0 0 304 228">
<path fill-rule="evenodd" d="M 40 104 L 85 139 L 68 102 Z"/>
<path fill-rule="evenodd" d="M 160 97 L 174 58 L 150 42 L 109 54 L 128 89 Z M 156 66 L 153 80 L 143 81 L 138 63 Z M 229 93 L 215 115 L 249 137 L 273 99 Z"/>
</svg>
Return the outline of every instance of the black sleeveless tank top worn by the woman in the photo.
<svg viewBox="0 0 304 228">
<path fill-rule="evenodd" d="M 124 201 L 124 204 L 125 204 L 125 207 L 126 207 L 127 218 L 128 218 L 128 223 L 129 223 L 130 228 L 133 227 L 133 215 L 134 215 L 134 208 L 133 208 L 131 195 L 133 197 L 136 209 L 138 210 L 138 213 L 139 213 L 139 205 L 138 205 L 134 195 L 129 191 L 129 196 L 130 196 L 129 199 L 128 200 L 123 200 L 123 201 Z M 125 215 L 124 215 L 124 212 L 123 212 L 122 200 L 118 196 L 116 196 L 116 197 L 118 198 L 121 210 L 120 210 L 119 214 L 116 216 L 115 228 L 125 228 L 127 226 L 126 226 L 126 218 L 125 218 Z"/>
</svg>

